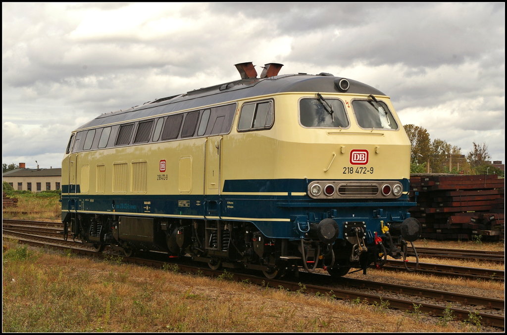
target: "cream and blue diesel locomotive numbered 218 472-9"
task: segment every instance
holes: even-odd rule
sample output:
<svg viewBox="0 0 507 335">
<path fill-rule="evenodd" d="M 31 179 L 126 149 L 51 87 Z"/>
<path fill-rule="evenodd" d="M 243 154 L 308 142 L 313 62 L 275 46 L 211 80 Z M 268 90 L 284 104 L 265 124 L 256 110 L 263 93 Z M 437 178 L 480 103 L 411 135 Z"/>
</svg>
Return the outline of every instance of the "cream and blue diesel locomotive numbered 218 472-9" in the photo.
<svg viewBox="0 0 507 335">
<path fill-rule="evenodd" d="M 73 131 L 65 232 L 97 251 L 155 250 L 267 278 L 405 259 L 421 228 L 408 212 L 410 141 L 389 97 L 330 73 L 235 66 L 239 80 Z"/>
</svg>

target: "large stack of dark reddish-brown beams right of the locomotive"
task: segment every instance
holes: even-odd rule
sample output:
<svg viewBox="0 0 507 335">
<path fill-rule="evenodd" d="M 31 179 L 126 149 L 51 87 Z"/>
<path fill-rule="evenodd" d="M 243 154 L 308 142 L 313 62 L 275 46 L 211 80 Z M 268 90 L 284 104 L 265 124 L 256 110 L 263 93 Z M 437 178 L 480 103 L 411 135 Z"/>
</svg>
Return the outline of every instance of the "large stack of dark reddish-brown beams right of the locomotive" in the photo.
<svg viewBox="0 0 507 335">
<path fill-rule="evenodd" d="M 497 175 L 411 175 L 421 238 L 504 240 L 505 180 Z"/>
</svg>

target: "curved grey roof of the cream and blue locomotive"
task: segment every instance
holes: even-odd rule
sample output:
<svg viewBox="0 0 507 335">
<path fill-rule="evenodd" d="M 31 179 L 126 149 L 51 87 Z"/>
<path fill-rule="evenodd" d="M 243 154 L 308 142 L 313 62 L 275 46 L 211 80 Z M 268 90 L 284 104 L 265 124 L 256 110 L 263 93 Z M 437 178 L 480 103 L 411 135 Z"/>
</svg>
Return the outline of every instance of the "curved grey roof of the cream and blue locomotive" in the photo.
<svg viewBox="0 0 507 335">
<path fill-rule="evenodd" d="M 335 79 L 341 79 L 341 77 L 335 77 L 329 73 L 317 75 L 298 73 L 230 81 L 185 94 L 157 99 L 142 106 L 104 113 L 83 124 L 77 130 L 283 92 L 337 93 L 340 91 L 335 85 Z M 365 83 L 348 78 L 347 80 L 350 87 L 346 93 L 385 96 L 384 93 Z"/>
</svg>

